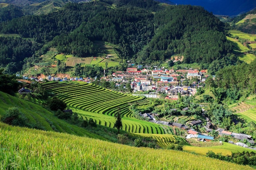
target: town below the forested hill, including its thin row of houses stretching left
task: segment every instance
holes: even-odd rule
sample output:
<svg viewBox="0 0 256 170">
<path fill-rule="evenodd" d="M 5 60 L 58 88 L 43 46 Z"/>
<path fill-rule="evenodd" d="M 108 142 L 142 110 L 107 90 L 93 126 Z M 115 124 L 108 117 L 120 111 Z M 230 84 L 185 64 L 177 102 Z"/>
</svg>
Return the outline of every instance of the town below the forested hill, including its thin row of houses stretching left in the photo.
<svg viewBox="0 0 256 170">
<path fill-rule="evenodd" d="M 159 97 L 157 94 L 165 93 L 168 95 L 167 99 L 177 99 L 177 94 L 181 93 L 182 95 L 194 95 L 196 93 L 195 86 L 198 86 L 200 82 L 204 82 L 208 77 L 206 70 L 195 70 L 195 69 L 186 69 L 186 70 L 174 70 L 174 69 L 165 69 L 157 68 L 154 66 L 153 70 L 142 68 L 141 65 L 137 67 L 126 68 L 126 71 L 116 71 L 112 75 L 106 77 L 101 77 L 106 81 L 116 82 L 116 86 L 120 84 L 126 84 L 130 82 L 132 92 L 142 92 L 150 91 L 149 94 L 144 94 L 145 97 Z M 20 77 L 20 75 L 16 75 Z M 177 77 L 180 77 L 178 80 Z M 193 82 L 193 85 L 183 86 L 182 80 L 187 79 L 197 79 L 198 81 Z M 84 82 L 93 82 L 95 81 L 91 77 L 55 77 L 54 75 L 48 75 L 44 78 L 41 76 L 38 77 L 27 77 L 22 76 L 22 79 L 25 80 L 35 80 L 38 82 L 43 81 L 84 81 Z"/>
</svg>

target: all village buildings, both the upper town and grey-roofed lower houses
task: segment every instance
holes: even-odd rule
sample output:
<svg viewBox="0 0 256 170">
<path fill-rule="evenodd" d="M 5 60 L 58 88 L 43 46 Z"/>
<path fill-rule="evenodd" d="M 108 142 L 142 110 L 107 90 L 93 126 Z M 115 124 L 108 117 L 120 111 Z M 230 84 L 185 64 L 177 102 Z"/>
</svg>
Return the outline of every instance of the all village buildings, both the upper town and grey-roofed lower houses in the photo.
<svg viewBox="0 0 256 170">
<path fill-rule="evenodd" d="M 20 77 L 20 75 L 16 75 L 17 77 Z M 174 70 L 174 69 L 165 69 L 165 68 L 157 68 L 157 66 L 154 66 L 153 70 L 147 69 L 146 67 L 143 68 L 143 66 L 138 65 L 137 67 L 129 67 L 126 68 L 126 71 L 116 71 L 112 73 L 112 75 L 108 77 L 101 77 L 101 79 L 105 79 L 106 81 L 112 81 L 115 82 L 116 85 L 120 85 L 121 83 L 127 83 L 131 82 L 130 87 L 132 88 L 133 95 L 144 95 L 145 97 L 151 97 L 151 98 L 158 98 L 159 93 L 166 94 L 165 99 L 171 99 L 171 100 L 177 100 L 178 99 L 178 93 L 181 95 L 195 95 L 196 89 L 199 86 L 200 82 L 204 82 L 207 77 L 207 71 L 201 70 L 198 71 L 196 69 L 184 69 L 184 70 Z M 180 80 L 178 80 L 178 77 L 180 77 Z M 214 77 L 214 76 L 213 76 Z M 35 80 L 38 82 L 43 81 L 84 81 L 84 82 L 93 82 L 95 79 L 90 77 L 54 77 L 52 75 L 46 76 L 45 79 L 43 78 L 37 78 L 37 77 L 26 77 L 23 76 L 22 79 L 25 80 Z M 192 86 L 184 86 L 182 84 L 182 80 L 184 79 L 197 79 L 197 82 L 193 82 Z M 145 92 L 150 91 L 148 94 L 138 94 L 137 92 Z M 19 91 L 20 94 L 29 93 L 27 89 L 22 88 Z M 173 108 L 175 111 L 175 108 Z M 183 108 L 182 110 L 187 110 L 188 108 Z M 202 110 L 203 113 L 205 110 Z M 195 131 L 192 127 L 193 126 L 202 126 L 202 120 L 194 120 L 186 122 L 185 124 L 180 124 L 177 122 L 169 122 L 169 121 L 160 121 L 157 120 L 155 117 L 158 115 L 155 113 L 144 113 L 141 115 L 142 117 L 148 119 L 148 121 L 156 123 L 156 124 L 162 124 L 166 126 L 171 126 L 175 128 L 180 128 L 182 130 L 185 130 L 188 134 L 186 136 L 186 139 L 195 138 L 198 139 L 198 141 L 212 141 L 214 140 L 214 137 L 209 136 L 208 133 L 211 132 L 213 129 L 211 128 L 211 121 L 208 117 L 205 117 L 205 120 L 207 121 L 207 124 L 203 126 L 206 129 L 207 133 L 201 134 L 200 132 Z M 231 137 L 234 137 L 235 139 L 239 139 L 240 141 L 246 139 L 249 141 L 250 144 L 254 144 L 254 141 L 252 140 L 252 136 L 242 134 L 242 133 L 234 133 L 234 132 L 228 132 L 222 128 L 218 128 L 216 130 L 218 132 L 218 135 L 228 135 Z M 236 144 L 238 146 L 251 148 L 247 144 L 242 142 L 236 142 L 228 141 L 231 144 Z M 255 148 L 252 148 L 255 149 Z"/>
</svg>

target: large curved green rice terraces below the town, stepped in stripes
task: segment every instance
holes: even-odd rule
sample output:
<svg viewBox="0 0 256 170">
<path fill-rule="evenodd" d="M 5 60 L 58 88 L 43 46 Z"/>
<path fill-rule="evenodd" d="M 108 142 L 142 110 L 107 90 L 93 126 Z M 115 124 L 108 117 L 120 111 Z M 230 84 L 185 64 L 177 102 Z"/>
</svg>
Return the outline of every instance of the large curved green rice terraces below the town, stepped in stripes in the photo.
<svg viewBox="0 0 256 170">
<path fill-rule="evenodd" d="M 130 103 L 139 102 L 141 97 L 127 95 L 85 82 L 49 82 L 43 84 L 63 100 L 68 108 L 78 113 L 83 119 L 94 119 L 97 124 L 114 127 L 117 112 L 123 115 L 122 130 L 134 133 L 165 134 L 158 124 L 132 117 Z"/>
</svg>

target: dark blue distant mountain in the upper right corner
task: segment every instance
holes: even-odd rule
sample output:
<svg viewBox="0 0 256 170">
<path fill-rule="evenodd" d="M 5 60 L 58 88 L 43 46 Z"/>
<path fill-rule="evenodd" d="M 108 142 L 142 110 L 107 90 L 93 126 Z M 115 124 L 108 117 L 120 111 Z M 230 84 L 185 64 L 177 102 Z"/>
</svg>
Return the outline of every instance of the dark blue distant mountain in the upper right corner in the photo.
<svg viewBox="0 0 256 170">
<path fill-rule="evenodd" d="M 201 6 L 215 15 L 228 16 L 238 15 L 256 8 L 256 0 L 170 0 L 169 4 L 173 3 Z"/>
</svg>

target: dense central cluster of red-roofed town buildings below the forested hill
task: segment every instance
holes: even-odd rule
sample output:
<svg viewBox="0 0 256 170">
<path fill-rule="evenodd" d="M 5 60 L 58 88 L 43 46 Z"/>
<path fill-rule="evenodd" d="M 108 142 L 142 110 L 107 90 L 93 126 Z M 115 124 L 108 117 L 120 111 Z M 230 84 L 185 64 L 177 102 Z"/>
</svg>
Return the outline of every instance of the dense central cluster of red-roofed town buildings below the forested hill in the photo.
<svg viewBox="0 0 256 170">
<path fill-rule="evenodd" d="M 180 88 L 177 77 L 184 76 L 188 79 L 196 78 L 201 81 L 202 75 L 206 73 L 206 70 L 174 70 L 174 69 L 159 69 L 153 70 L 143 68 L 142 66 L 126 68 L 126 71 L 116 71 L 112 73 L 112 81 L 125 82 L 128 79 L 132 79 L 131 88 L 136 91 L 150 91 L 155 90 L 162 93 L 169 93 L 169 95 L 177 95 L 177 93 L 188 94 L 187 90 Z M 174 87 L 174 88 L 170 88 Z"/>
</svg>

